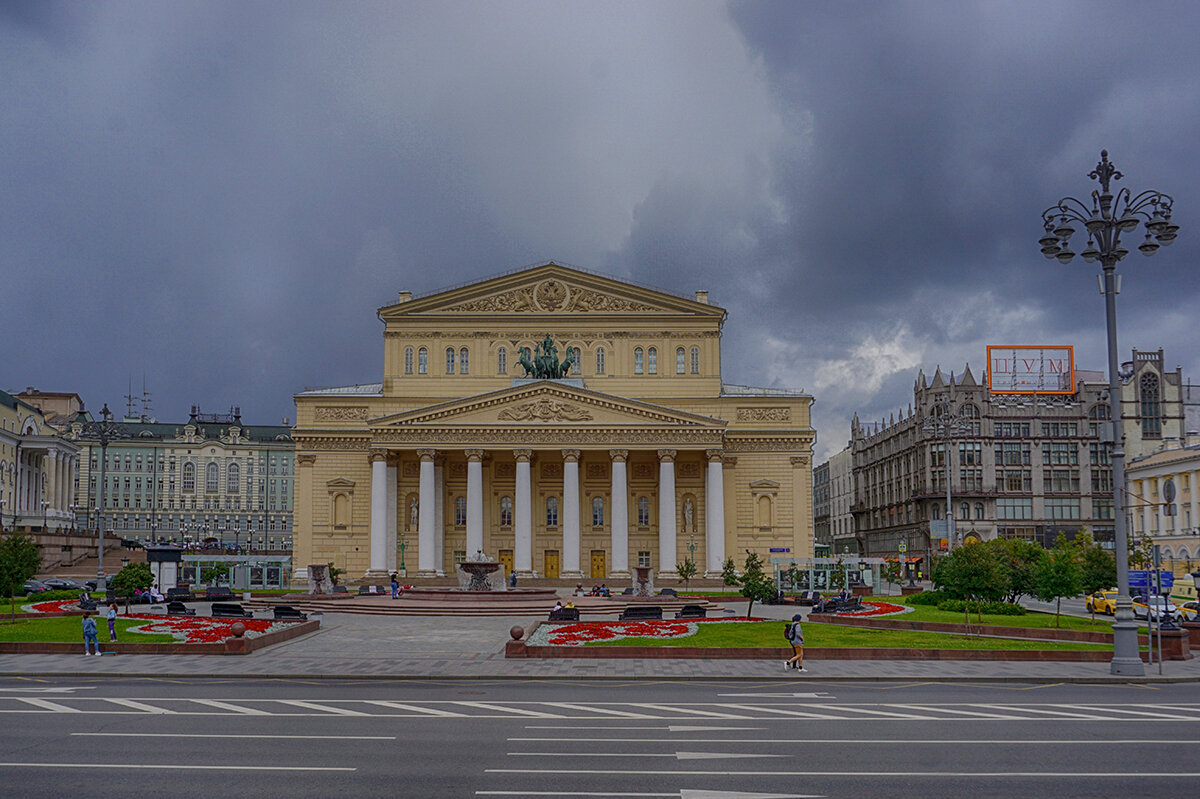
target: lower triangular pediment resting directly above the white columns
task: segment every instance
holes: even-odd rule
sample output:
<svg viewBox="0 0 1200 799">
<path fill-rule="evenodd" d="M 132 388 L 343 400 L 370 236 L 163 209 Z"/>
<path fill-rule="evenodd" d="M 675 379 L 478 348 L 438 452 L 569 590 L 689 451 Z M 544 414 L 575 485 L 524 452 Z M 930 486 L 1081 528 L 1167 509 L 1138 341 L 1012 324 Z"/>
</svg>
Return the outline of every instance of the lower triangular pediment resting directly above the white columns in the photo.
<svg viewBox="0 0 1200 799">
<path fill-rule="evenodd" d="M 538 380 L 370 421 L 372 431 L 418 427 L 686 427 L 721 431 L 725 421 Z"/>
</svg>

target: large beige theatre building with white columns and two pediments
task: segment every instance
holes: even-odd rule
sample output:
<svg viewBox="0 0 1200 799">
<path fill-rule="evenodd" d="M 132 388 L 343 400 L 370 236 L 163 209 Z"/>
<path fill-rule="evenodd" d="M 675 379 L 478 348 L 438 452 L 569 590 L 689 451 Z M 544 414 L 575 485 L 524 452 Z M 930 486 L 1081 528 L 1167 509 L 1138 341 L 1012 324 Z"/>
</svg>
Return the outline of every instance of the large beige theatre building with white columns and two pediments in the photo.
<svg viewBox="0 0 1200 799">
<path fill-rule="evenodd" d="M 722 383 L 707 292 L 547 263 L 378 318 L 380 383 L 295 396 L 295 581 L 812 557 L 812 397 Z"/>
</svg>

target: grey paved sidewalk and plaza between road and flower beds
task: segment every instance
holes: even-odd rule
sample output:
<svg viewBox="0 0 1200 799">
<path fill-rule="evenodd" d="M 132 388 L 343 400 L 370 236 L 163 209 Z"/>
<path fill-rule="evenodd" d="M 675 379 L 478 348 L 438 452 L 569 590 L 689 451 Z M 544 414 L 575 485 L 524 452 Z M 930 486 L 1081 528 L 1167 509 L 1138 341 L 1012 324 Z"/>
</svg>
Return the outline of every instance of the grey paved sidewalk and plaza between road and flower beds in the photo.
<svg viewBox="0 0 1200 799">
<path fill-rule="evenodd" d="M 744 605 L 737 606 L 739 612 Z M 794 608 L 755 605 L 754 614 L 791 618 Z M 1108 663 L 1027 661 L 821 661 L 808 674 L 776 661 L 506 660 L 509 629 L 522 617 L 370 617 L 328 613 L 319 632 L 250 655 L 0 655 L 0 677 L 350 678 L 350 679 L 667 679 L 667 680 L 953 680 L 1127 683 Z M 782 653 L 782 647 L 780 648 Z M 1147 665 L 1138 681 L 1200 681 L 1200 657 Z"/>
</svg>

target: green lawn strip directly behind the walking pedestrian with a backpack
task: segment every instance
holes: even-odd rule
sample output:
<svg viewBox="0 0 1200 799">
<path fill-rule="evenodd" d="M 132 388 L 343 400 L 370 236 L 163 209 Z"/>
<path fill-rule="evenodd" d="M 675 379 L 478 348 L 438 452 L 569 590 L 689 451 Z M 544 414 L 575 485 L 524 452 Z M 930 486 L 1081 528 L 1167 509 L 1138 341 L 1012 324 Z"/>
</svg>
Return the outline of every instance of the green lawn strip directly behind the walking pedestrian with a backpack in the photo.
<svg viewBox="0 0 1200 799">
<path fill-rule="evenodd" d="M 880 647 L 886 649 L 1111 649 L 1110 644 L 1086 644 L 1058 641 L 1018 641 L 1014 638 L 965 638 L 943 632 L 907 630 L 865 630 L 836 624 L 804 625 L 806 647 Z M 701 623 L 696 635 L 686 638 L 622 638 L 598 641 L 588 647 L 779 647 L 784 639 L 782 621 Z"/>
</svg>

